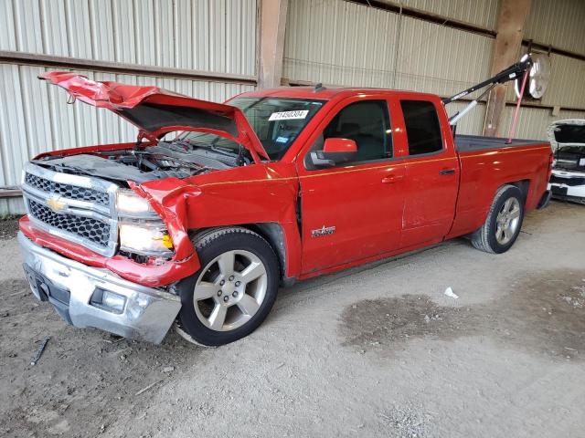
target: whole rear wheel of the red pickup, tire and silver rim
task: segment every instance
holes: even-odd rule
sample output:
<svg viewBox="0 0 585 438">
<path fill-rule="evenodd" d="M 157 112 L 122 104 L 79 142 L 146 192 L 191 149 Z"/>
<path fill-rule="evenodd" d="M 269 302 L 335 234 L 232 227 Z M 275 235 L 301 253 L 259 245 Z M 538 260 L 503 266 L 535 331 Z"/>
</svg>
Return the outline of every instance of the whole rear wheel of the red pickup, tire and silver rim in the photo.
<svg viewBox="0 0 585 438">
<path fill-rule="evenodd" d="M 524 194 L 506 184 L 495 193 L 484 225 L 471 235 L 472 245 L 486 253 L 505 253 L 520 234 L 524 220 Z"/>
</svg>

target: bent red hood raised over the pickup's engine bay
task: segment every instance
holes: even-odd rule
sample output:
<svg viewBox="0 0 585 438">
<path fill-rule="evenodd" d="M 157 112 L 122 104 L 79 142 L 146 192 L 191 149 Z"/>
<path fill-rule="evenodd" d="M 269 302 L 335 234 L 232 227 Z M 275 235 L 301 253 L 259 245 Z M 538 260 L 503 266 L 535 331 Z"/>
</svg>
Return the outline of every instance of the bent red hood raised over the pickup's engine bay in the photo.
<svg viewBox="0 0 585 438">
<path fill-rule="evenodd" d="M 74 99 L 112 110 L 140 130 L 139 138 L 152 141 L 166 132 L 194 130 L 220 135 L 245 146 L 255 162 L 269 159 L 244 114 L 236 107 L 138 85 L 94 81 L 67 71 L 38 77 L 66 89 Z"/>
</svg>

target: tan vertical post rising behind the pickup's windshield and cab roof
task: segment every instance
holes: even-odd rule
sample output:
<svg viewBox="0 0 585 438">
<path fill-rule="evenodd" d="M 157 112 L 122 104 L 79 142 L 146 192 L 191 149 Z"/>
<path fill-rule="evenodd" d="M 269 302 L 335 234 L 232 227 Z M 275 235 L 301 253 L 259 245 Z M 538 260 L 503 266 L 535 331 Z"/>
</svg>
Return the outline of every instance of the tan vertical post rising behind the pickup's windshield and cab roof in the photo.
<svg viewBox="0 0 585 438">
<path fill-rule="evenodd" d="M 258 87 L 281 85 L 284 31 L 288 0 L 262 0 L 260 19 L 260 66 Z"/>
</svg>

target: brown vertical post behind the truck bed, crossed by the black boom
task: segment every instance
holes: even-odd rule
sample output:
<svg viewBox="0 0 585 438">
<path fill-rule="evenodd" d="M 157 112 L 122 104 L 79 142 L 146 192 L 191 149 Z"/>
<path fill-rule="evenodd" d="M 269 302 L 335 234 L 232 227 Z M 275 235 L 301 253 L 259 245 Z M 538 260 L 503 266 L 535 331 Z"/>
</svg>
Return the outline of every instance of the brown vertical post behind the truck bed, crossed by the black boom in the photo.
<svg viewBox="0 0 585 438">
<path fill-rule="evenodd" d="M 501 1 L 492 55 L 492 75 L 518 61 L 530 5 L 531 0 Z M 499 128 L 505 107 L 505 94 L 507 87 L 511 84 L 512 82 L 500 84 L 490 91 L 485 110 L 485 136 L 498 137 L 501 134 Z"/>
</svg>

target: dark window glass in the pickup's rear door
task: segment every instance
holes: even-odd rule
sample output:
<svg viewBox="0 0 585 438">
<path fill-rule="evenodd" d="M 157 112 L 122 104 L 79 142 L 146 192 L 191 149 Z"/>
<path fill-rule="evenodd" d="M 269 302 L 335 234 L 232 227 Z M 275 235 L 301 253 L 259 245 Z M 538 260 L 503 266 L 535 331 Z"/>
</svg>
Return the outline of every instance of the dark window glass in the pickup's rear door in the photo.
<svg viewBox="0 0 585 438">
<path fill-rule="evenodd" d="M 400 100 L 400 107 L 409 139 L 409 155 L 441 151 L 441 125 L 432 102 Z"/>
</svg>

